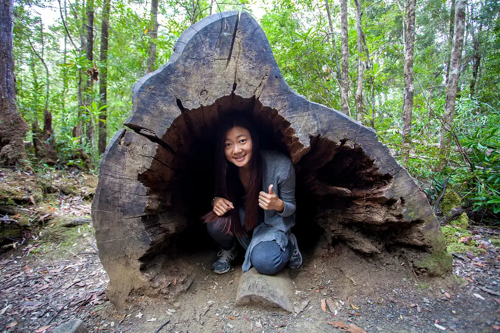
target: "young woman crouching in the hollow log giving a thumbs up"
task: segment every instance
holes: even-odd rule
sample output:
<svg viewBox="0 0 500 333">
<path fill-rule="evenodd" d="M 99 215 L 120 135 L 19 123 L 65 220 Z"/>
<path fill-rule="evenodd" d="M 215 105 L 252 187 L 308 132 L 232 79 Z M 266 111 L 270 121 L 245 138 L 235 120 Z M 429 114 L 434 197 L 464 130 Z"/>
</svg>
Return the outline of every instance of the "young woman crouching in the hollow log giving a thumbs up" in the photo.
<svg viewBox="0 0 500 333">
<path fill-rule="evenodd" d="M 271 275 L 287 263 L 302 264 L 295 224 L 295 171 L 290 159 L 260 150 L 252 122 L 233 115 L 221 122 L 216 139 L 216 196 L 205 215 L 209 235 L 221 251 L 212 268 L 229 272 L 236 257 L 236 237 L 246 250 L 243 272 L 253 266 Z"/>
</svg>

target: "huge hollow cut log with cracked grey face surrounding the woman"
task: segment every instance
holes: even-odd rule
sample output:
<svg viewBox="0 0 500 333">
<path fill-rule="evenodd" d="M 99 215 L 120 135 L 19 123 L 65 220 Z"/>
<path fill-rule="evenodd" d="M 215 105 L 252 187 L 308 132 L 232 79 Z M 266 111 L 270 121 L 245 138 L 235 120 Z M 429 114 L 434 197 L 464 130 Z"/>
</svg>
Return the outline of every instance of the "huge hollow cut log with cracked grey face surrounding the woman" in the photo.
<svg viewBox="0 0 500 333">
<path fill-rule="evenodd" d="M 194 279 L 181 246 L 208 238 L 199 218 L 211 209 L 214 128 L 228 112 L 252 115 L 262 148 L 294 163 L 299 242 L 320 233 L 368 256 L 402 249 L 418 273 L 451 269 L 437 220 L 406 170 L 372 130 L 295 93 L 248 13 L 195 23 L 132 90 L 127 129 L 106 148 L 92 205 L 117 307 L 132 291 L 172 296 Z"/>
</svg>

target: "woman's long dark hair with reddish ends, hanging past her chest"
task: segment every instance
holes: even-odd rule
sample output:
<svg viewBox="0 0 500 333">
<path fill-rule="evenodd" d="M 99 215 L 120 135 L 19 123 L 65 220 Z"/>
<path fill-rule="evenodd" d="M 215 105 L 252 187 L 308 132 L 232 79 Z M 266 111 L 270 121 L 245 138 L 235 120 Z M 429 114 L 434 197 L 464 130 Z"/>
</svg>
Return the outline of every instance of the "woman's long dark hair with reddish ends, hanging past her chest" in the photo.
<svg viewBox="0 0 500 333">
<path fill-rule="evenodd" d="M 246 191 L 242 191 L 238 167 L 227 161 L 224 154 L 225 136 L 235 126 L 248 130 L 252 143 L 251 158 L 248 162 L 250 175 Z M 226 234 L 246 236 L 257 225 L 258 193 L 262 182 L 262 155 L 253 121 L 246 115 L 231 112 L 229 116 L 221 119 L 215 142 L 217 145 L 215 148 L 215 196 L 229 200 L 234 209 L 230 209 L 223 216 L 217 216 L 212 210 L 202 219 L 205 223 L 221 224 Z M 241 200 L 241 194 L 244 195 L 245 200 Z M 244 204 L 245 211 L 244 226 L 239 220 L 238 213 L 238 207 L 242 204 Z"/>
</svg>

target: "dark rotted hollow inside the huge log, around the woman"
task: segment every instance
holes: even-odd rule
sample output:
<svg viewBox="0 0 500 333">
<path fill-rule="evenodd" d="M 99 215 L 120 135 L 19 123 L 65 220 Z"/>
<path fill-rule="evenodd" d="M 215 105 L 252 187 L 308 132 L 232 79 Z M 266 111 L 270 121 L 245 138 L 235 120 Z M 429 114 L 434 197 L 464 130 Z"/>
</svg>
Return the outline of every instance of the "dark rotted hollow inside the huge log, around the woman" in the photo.
<svg viewBox="0 0 500 333">
<path fill-rule="evenodd" d="M 302 251 L 312 250 L 325 236 L 333 244 L 349 242 L 360 252 L 378 253 L 377 246 L 397 232 L 387 232 L 388 227 L 404 223 L 403 216 L 395 213 L 404 202 L 382 194 L 392 176 L 381 174 L 354 142 L 311 137 L 310 146 L 304 149 L 290 123 L 255 98 L 231 94 L 198 109 L 186 109 L 180 100 L 177 106 L 180 115 L 164 137 L 136 129 L 164 148 L 156 152 L 158 163 L 139 177 L 159 202 L 142 217 L 152 242 L 141 258 L 143 273 L 158 265 L 159 257 L 173 258 L 214 246 L 200 217 L 211 210 L 215 129 L 219 117 L 231 110 L 253 116 L 262 149 L 292 156 L 297 200 L 294 232 Z"/>
</svg>

